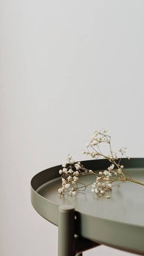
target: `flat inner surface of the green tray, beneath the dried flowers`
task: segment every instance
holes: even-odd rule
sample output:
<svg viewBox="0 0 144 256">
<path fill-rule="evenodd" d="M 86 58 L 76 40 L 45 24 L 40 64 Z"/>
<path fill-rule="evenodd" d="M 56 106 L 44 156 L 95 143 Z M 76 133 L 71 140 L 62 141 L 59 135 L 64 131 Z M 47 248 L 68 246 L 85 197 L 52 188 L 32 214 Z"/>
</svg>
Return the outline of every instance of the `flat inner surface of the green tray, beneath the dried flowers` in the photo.
<svg viewBox="0 0 144 256">
<path fill-rule="evenodd" d="M 126 168 L 126 171 L 135 180 L 144 183 L 144 167 Z M 86 175 L 80 177 L 79 181 L 90 183 L 94 179 L 95 175 Z M 144 227 L 144 186 L 126 181 L 113 187 L 109 192 L 109 196 L 112 198 L 106 199 L 99 198 L 91 192 L 91 185 L 85 192 L 79 192 L 77 196 L 60 195 L 57 192 L 60 185 L 61 178 L 54 178 L 37 188 L 37 193 L 57 205 L 74 205 L 79 213 Z"/>
</svg>

